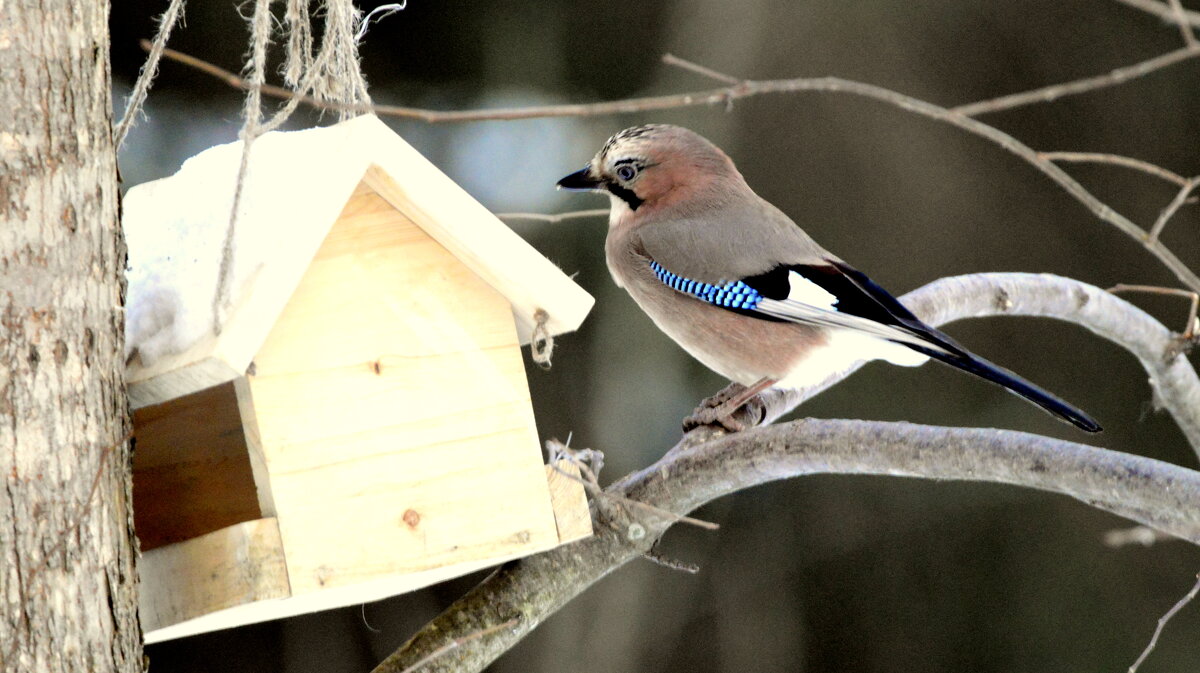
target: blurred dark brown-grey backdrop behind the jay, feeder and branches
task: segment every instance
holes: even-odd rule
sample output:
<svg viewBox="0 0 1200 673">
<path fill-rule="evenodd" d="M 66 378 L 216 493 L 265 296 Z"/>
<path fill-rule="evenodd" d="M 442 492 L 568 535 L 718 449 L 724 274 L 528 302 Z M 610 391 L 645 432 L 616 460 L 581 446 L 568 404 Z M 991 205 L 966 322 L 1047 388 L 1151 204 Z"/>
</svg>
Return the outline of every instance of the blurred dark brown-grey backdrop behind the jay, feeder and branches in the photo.
<svg viewBox="0 0 1200 673">
<path fill-rule="evenodd" d="M 124 100 L 164 0 L 115 2 L 114 98 Z M 361 4 L 370 10 L 374 4 Z M 246 10 L 248 11 L 248 8 Z M 170 46 L 239 70 L 233 1 L 194 2 Z M 1176 29 L 1114 0 L 410 0 L 361 49 L 378 103 L 439 109 L 590 102 L 708 89 L 664 53 L 740 77 L 840 76 L 943 106 L 1076 79 L 1172 50 Z M 275 78 L 278 82 L 278 78 Z M 1200 173 L 1200 64 L 986 115 L 1038 150 L 1102 151 Z M 172 62 L 120 162 L 125 186 L 174 173 L 236 138 L 241 92 Z M 292 128 L 335 121 L 302 110 Z M 1123 234 L 1040 173 L 978 138 L 895 108 L 829 94 L 589 119 L 389 124 L 494 211 L 607 206 L 554 191 L 612 133 L 689 126 L 722 146 L 755 190 L 896 294 L 942 276 L 1045 271 L 1100 287 L 1174 286 Z M 1148 226 L 1175 187 L 1099 166 L 1068 170 Z M 607 456 L 604 481 L 655 461 L 679 420 L 725 381 L 658 332 L 608 277 L 604 218 L 511 226 L 576 274 L 598 304 L 529 367 L 544 438 Z M 1200 266 L 1198 206 L 1164 240 Z M 1172 329 L 1187 302 L 1135 296 Z M 798 414 L 996 426 L 1094 441 L 1187 467 L 1196 457 L 1150 401 L 1136 361 L 1085 330 L 1006 318 L 949 328 L 971 349 L 1097 416 L 1073 431 L 997 387 L 936 365 L 871 365 Z M 1193 356 L 1195 361 L 1195 356 Z M 662 552 L 696 576 L 634 561 L 541 625 L 491 671 L 1124 671 L 1200 570 L 1178 542 L 1109 548 L 1127 522 L 1074 500 L 992 485 L 817 476 L 755 488 L 698 512 Z M 391 600 L 150 645 L 152 671 L 367 671 L 481 575 Z M 1146 672 L 1193 672 L 1200 607 L 1171 621 Z"/>
</svg>

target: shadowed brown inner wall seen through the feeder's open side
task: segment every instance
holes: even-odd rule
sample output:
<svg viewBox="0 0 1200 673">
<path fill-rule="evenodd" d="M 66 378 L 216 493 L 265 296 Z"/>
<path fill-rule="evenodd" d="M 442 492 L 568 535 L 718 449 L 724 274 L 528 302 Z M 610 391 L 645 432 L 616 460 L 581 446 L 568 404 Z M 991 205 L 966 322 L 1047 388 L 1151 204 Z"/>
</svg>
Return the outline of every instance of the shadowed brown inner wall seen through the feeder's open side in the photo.
<svg viewBox="0 0 1200 673">
<path fill-rule="evenodd" d="M 142 551 L 263 516 L 233 384 L 138 409 L 133 433 Z"/>
</svg>

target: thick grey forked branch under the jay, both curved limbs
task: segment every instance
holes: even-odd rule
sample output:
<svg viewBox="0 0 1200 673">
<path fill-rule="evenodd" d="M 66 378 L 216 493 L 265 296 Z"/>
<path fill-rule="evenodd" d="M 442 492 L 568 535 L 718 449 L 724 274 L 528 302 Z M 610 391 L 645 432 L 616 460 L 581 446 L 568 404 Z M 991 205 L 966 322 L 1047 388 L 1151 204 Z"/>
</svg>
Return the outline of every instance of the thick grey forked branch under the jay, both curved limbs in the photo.
<svg viewBox="0 0 1200 673">
<path fill-rule="evenodd" d="M 1049 275 L 985 274 L 944 278 L 904 298 L 934 324 L 968 316 L 1045 316 L 1080 324 L 1129 349 L 1157 397 L 1200 438 L 1200 381 L 1170 353 L 1162 324 L 1099 288 Z M 851 369 L 852 371 L 852 369 Z M 844 378 L 766 399 L 766 419 L 791 410 Z M 1026 433 L 804 420 L 722 437 L 694 431 L 661 461 L 608 487 L 655 507 L 686 513 L 749 486 L 808 474 L 878 474 L 1020 485 L 1076 498 L 1200 543 L 1200 473 L 1150 458 Z M 634 515 L 637 516 L 634 516 Z M 592 539 L 502 566 L 376 668 L 397 673 L 446 642 L 518 618 L 511 630 L 472 642 L 454 662 L 428 671 L 480 671 L 592 583 L 650 548 L 674 519 L 625 510 Z"/>
</svg>

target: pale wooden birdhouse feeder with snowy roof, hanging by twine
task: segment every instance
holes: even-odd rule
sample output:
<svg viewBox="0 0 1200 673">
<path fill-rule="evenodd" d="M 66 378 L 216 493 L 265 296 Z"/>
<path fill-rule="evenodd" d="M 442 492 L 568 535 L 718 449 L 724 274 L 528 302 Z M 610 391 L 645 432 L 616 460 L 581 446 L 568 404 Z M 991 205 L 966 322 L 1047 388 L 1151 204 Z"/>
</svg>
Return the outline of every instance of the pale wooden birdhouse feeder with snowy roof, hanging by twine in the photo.
<svg viewBox="0 0 1200 673">
<path fill-rule="evenodd" d="M 258 138 L 230 228 L 241 155 L 124 202 L 146 641 L 589 535 L 520 348 L 592 298 L 373 116 Z"/>
</svg>

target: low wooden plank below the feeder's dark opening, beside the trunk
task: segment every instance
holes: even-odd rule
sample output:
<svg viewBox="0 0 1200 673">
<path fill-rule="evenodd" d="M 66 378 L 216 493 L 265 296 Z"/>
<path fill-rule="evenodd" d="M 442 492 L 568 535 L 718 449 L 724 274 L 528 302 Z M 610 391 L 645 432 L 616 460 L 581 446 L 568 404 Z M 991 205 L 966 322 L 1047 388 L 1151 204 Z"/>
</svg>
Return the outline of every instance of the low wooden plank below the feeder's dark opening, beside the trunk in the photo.
<svg viewBox="0 0 1200 673">
<path fill-rule="evenodd" d="M 290 595 L 276 519 L 247 521 L 152 549 L 138 563 L 148 641 L 161 629 L 216 611 Z M 210 630 L 233 623 L 210 624 Z"/>
</svg>

